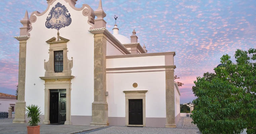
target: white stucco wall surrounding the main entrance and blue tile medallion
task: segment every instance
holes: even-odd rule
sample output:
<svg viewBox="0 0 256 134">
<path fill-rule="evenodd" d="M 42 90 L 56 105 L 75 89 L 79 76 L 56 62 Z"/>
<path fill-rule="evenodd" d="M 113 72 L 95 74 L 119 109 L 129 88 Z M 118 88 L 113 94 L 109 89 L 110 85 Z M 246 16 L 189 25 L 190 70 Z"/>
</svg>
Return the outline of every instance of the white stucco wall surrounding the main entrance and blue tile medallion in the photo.
<svg viewBox="0 0 256 134">
<path fill-rule="evenodd" d="M 68 58 L 73 57 L 71 115 L 91 116 L 93 102 L 93 34 L 88 30 L 88 16 L 82 15 L 82 10 L 77 11 L 70 7 L 64 0 L 56 0 L 49 10 L 42 16 L 37 16 L 37 21 L 32 23 L 32 31 L 27 41 L 26 58 L 26 105 L 35 104 L 41 107 L 44 114 L 44 59 L 48 61 L 49 44 L 45 41 L 57 36 L 56 29 L 45 27 L 46 17 L 50 9 L 57 3 L 65 5 L 71 14 L 72 22 L 69 26 L 59 30 L 60 36 L 70 41 L 67 43 Z M 85 7 L 86 8 L 86 7 Z M 72 33 L 72 34 L 71 34 Z M 35 84 L 35 85 L 34 85 Z M 86 98 L 86 99 L 84 99 Z"/>
</svg>

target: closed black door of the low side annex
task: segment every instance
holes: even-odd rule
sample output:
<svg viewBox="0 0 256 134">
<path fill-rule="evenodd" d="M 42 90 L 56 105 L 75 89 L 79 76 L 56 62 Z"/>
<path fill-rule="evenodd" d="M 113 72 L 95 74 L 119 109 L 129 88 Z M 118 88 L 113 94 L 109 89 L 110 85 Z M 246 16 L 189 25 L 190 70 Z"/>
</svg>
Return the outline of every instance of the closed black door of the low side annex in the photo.
<svg viewBox="0 0 256 134">
<path fill-rule="evenodd" d="M 129 125 L 143 125 L 142 99 L 129 99 Z"/>
</svg>

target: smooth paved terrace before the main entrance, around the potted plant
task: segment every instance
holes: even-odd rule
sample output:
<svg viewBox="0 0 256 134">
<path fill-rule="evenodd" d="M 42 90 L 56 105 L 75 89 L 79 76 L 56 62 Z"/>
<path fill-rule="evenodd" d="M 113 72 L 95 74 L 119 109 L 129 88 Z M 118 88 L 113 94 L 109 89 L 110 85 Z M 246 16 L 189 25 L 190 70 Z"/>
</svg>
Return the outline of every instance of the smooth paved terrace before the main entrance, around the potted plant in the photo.
<svg viewBox="0 0 256 134">
<path fill-rule="evenodd" d="M 13 119 L 0 119 L 1 134 L 27 134 L 28 124 L 12 124 Z M 100 128 L 99 126 L 41 125 L 40 134 L 74 134 Z"/>
</svg>

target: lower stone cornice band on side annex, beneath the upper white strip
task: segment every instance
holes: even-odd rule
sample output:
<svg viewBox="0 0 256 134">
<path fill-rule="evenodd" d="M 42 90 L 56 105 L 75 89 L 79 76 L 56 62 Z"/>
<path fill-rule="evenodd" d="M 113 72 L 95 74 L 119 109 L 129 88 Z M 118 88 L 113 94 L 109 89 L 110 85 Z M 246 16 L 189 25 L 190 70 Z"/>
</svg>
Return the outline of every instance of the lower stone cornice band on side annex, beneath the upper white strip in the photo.
<svg viewBox="0 0 256 134">
<path fill-rule="evenodd" d="M 171 66 L 144 66 L 144 67 L 120 67 L 120 68 L 106 68 L 106 71 L 113 70 L 135 70 L 135 69 L 157 69 L 157 68 L 176 68 L 176 65 Z"/>
</svg>

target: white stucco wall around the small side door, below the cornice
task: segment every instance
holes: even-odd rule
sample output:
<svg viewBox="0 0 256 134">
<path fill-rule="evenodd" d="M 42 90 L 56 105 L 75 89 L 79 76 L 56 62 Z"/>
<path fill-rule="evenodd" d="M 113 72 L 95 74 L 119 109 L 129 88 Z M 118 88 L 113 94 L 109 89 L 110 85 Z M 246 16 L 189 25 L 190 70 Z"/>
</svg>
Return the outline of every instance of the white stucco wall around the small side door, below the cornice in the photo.
<svg viewBox="0 0 256 134">
<path fill-rule="evenodd" d="M 132 84 L 136 82 L 138 87 Z M 106 88 L 109 92 L 109 117 L 125 117 L 124 90 L 146 92 L 146 117 L 165 118 L 165 71 L 139 73 L 107 73 Z"/>
</svg>

